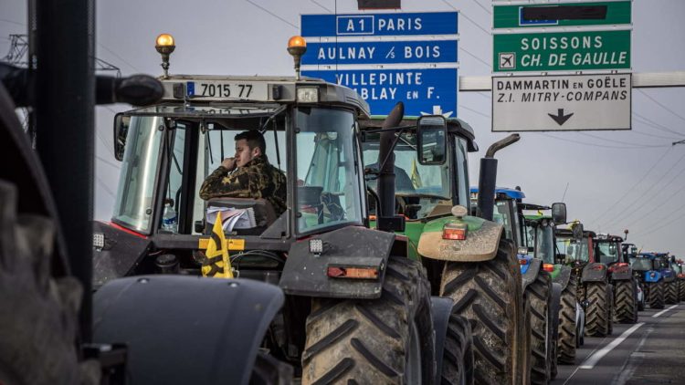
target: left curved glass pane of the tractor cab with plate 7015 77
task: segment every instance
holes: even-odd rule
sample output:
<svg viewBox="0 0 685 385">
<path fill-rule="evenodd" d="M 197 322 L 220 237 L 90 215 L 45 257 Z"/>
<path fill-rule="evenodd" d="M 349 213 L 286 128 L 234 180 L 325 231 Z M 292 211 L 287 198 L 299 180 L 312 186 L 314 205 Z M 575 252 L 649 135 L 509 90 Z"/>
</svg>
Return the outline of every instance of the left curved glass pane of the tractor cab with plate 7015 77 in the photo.
<svg viewBox="0 0 685 385">
<path fill-rule="evenodd" d="M 126 136 L 119 190 L 112 222 L 149 233 L 153 220 L 155 178 L 162 150 L 161 117 L 134 116 Z"/>
</svg>

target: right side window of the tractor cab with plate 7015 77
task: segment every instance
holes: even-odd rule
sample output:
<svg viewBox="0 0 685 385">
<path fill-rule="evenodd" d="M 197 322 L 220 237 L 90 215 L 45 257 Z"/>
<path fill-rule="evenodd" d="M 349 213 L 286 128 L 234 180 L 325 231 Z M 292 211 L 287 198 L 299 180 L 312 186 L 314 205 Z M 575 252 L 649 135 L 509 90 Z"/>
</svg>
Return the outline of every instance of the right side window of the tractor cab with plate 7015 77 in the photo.
<svg viewBox="0 0 685 385">
<path fill-rule="evenodd" d="M 295 221 L 299 233 L 337 224 L 362 224 L 361 158 L 353 113 L 300 108 L 295 119 Z"/>
</svg>

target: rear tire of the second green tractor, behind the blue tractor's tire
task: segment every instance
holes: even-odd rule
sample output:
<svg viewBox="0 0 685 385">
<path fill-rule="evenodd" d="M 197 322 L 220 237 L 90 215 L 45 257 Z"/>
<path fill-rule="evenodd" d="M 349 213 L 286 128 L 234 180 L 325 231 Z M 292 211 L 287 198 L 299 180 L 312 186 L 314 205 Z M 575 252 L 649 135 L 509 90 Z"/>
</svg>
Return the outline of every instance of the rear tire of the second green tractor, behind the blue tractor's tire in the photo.
<svg viewBox="0 0 685 385">
<path fill-rule="evenodd" d="M 575 304 L 577 281 L 574 276 L 568 280 L 568 285 L 562 291 L 561 307 L 559 308 L 559 341 L 557 354 L 560 364 L 573 365 L 575 363 Z"/>
</svg>

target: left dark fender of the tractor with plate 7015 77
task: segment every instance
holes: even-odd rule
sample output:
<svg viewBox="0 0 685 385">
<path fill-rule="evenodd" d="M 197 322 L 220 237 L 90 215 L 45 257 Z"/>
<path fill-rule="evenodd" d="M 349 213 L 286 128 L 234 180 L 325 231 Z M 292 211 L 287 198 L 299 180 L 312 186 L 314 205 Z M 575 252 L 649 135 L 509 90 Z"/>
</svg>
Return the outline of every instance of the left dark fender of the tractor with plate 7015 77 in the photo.
<svg viewBox="0 0 685 385">
<path fill-rule="evenodd" d="M 148 238 L 126 233 L 110 224 L 93 222 L 93 234 L 103 234 L 104 247 L 93 250 L 93 288 L 129 276 L 153 245 Z"/>
</svg>

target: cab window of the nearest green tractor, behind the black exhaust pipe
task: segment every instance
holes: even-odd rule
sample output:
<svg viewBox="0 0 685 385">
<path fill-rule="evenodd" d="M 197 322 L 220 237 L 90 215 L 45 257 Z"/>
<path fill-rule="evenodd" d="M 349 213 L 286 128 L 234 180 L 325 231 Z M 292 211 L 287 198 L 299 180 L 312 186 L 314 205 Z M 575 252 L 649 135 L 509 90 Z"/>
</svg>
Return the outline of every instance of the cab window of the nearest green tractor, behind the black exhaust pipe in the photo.
<svg viewBox="0 0 685 385">
<path fill-rule="evenodd" d="M 409 131 L 399 135 L 400 139 L 394 151 L 397 213 L 404 214 L 408 220 L 449 213 L 452 208 L 449 162 L 442 165 L 420 164 L 416 159 L 416 133 Z M 363 143 L 364 169 L 379 171 L 379 140 L 380 133 L 366 136 Z M 367 185 L 374 192 L 378 192 L 378 181 L 375 177 L 372 177 Z M 468 200 L 468 195 L 464 196 L 465 200 Z M 465 205 L 469 207 L 468 203 Z"/>
</svg>

